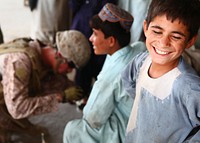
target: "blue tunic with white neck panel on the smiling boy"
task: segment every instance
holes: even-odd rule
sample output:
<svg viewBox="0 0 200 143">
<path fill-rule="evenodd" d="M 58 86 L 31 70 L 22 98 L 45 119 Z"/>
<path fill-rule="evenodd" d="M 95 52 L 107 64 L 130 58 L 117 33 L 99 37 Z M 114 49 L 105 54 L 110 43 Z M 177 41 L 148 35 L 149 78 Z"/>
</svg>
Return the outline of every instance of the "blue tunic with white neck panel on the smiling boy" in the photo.
<svg viewBox="0 0 200 143">
<path fill-rule="evenodd" d="M 126 143 L 200 142 L 200 78 L 181 58 L 176 68 L 150 78 L 151 58 L 137 56 L 122 74 L 123 88 L 134 98 Z M 136 90 L 135 90 L 136 89 Z"/>
</svg>

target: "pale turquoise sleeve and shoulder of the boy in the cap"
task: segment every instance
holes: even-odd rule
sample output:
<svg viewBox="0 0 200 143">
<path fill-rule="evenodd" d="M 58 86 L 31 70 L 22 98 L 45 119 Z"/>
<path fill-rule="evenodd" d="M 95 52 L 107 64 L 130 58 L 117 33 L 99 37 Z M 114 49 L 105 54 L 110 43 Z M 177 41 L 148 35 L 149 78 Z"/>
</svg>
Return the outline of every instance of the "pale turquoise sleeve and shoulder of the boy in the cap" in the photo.
<svg viewBox="0 0 200 143">
<path fill-rule="evenodd" d="M 116 83 L 114 81 L 134 55 L 139 52 L 141 52 L 141 49 L 137 49 L 136 46 L 134 48 L 126 47 L 118 50 L 112 56 L 107 56 L 102 71 L 97 77 L 97 81 L 93 86 L 90 98 L 83 111 L 83 118 L 85 118 L 92 127 L 101 127 L 113 112 L 116 104 L 115 102 L 118 102 L 120 100 L 118 98 L 124 96 L 121 94 L 114 96 L 116 90 L 119 90 L 118 87 L 115 86 Z"/>
</svg>

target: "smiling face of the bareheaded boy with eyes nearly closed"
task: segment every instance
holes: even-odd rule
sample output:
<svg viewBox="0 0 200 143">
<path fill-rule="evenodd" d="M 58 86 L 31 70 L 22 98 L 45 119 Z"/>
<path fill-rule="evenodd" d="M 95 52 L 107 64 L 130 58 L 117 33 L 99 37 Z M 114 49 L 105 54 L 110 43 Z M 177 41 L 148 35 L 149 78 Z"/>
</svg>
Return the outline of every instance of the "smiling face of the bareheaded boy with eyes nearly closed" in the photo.
<svg viewBox="0 0 200 143">
<path fill-rule="evenodd" d="M 165 15 L 155 17 L 148 28 L 144 22 L 144 32 L 152 62 L 158 65 L 176 66 L 183 50 L 192 45 L 187 27 L 179 20 L 167 20 Z"/>
</svg>

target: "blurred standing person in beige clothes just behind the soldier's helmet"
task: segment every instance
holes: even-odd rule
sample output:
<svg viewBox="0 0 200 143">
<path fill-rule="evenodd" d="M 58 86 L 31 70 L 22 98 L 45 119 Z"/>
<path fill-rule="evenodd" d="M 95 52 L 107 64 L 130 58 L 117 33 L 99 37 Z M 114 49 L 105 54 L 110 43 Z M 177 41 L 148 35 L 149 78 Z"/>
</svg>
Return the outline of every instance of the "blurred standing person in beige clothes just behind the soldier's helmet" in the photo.
<svg viewBox="0 0 200 143">
<path fill-rule="evenodd" d="M 32 39 L 45 44 L 55 44 L 56 32 L 68 30 L 71 11 L 68 0 L 29 0 Z"/>
</svg>

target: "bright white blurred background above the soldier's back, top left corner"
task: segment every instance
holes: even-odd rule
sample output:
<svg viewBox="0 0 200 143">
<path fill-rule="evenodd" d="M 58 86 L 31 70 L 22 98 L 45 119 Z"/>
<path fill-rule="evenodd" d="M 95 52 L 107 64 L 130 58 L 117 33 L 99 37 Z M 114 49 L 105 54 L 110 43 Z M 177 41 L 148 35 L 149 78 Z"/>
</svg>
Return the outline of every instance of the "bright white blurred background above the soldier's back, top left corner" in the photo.
<svg viewBox="0 0 200 143">
<path fill-rule="evenodd" d="M 24 0 L 0 0 L 0 25 L 4 41 L 29 36 L 31 11 Z"/>
</svg>

